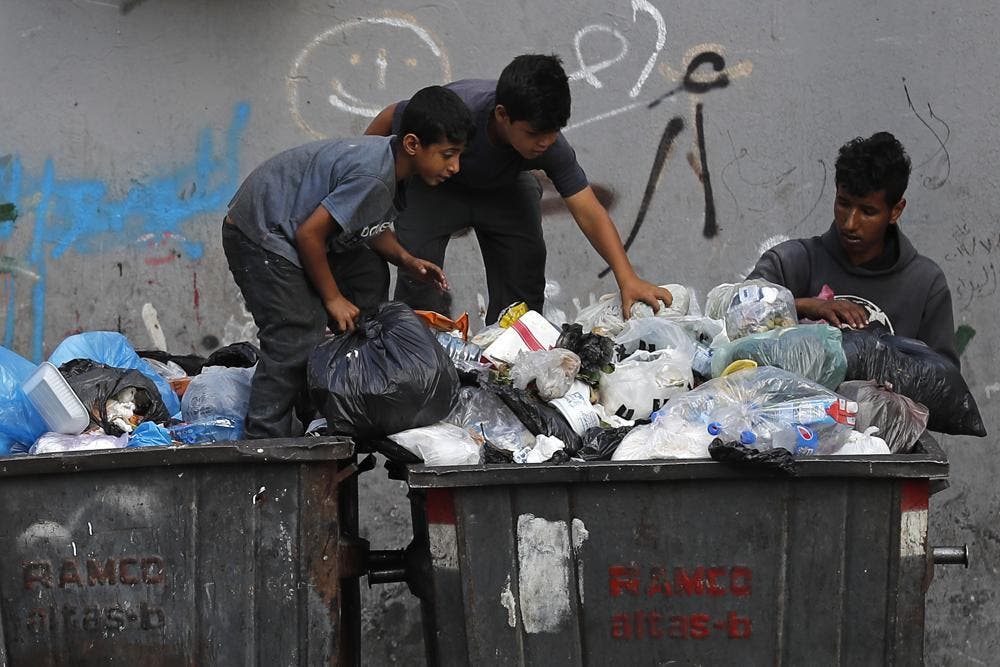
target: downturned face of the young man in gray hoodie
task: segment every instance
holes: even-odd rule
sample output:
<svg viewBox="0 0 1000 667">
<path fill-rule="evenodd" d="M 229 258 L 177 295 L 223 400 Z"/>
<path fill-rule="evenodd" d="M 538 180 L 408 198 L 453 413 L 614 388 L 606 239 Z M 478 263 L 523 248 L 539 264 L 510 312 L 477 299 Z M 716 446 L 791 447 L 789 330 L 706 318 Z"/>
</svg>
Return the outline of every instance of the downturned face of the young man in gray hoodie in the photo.
<svg viewBox="0 0 1000 667">
<path fill-rule="evenodd" d="M 833 221 L 837 225 L 840 245 L 852 264 L 864 264 L 882 254 L 889 225 L 896 224 L 905 206 L 906 200 L 900 199 L 890 207 L 885 201 L 885 190 L 860 197 L 837 186 Z"/>
</svg>

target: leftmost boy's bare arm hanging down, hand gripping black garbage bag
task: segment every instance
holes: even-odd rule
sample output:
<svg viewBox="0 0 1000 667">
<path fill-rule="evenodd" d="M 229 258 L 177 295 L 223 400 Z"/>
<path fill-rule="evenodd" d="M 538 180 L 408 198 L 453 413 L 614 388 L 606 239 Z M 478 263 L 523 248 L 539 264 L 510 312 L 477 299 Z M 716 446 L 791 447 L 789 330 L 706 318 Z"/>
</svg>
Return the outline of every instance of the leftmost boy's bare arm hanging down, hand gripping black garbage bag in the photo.
<svg viewBox="0 0 1000 667">
<path fill-rule="evenodd" d="M 302 268 L 319 293 L 330 318 L 341 331 L 354 331 L 354 322 L 361 311 L 341 294 L 326 256 L 326 240 L 339 231 L 340 226 L 330 212 L 318 206 L 295 230 L 295 247 Z"/>
</svg>

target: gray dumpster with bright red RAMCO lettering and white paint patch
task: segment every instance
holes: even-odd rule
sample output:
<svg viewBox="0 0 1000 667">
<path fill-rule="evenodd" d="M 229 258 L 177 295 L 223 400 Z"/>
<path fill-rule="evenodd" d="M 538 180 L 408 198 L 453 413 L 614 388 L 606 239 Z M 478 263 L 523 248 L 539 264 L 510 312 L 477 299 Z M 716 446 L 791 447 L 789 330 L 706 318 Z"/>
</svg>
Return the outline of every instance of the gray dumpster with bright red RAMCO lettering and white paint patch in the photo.
<svg viewBox="0 0 1000 667">
<path fill-rule="evenodd" d="M 921 664 L 940 447 L 797 470 L 411 467 L 429 662 Z"/>
</svg>

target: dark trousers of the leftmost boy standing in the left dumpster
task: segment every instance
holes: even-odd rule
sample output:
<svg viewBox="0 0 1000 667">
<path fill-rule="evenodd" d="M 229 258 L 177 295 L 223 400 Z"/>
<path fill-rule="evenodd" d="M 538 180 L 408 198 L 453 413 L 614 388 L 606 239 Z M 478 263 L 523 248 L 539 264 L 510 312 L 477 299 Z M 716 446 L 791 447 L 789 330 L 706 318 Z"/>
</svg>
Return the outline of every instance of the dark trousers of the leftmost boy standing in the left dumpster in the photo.
<svg viewBox="0 0 1000 667">
<path fill-rule="evenodd" d="M 306 363 L 330 324 L 326 308 L 305 271 L 261 248 L 235 226 L 223 223 L 222 247 L 260 330 L 260 359 L 250 388 L 246 437 L 301 435 L 307 425 L 303 422 L 312 417 Z M 362 315 L 388 298 L 389 267 L 367 246 L 331 254 L 328 259 L 341 293 Z"/>
</svg>

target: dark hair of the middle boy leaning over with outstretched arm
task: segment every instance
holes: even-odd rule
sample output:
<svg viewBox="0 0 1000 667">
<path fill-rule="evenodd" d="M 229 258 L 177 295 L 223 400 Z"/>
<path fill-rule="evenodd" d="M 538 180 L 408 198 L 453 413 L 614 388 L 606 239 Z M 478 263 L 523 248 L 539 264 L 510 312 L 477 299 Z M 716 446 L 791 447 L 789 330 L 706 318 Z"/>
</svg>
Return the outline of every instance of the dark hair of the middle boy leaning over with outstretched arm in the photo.
<svg viewBox="0 0 1000 667">
<path fill-rule="evenodd" d="M 517 56 L 497 80 L 496 103 L 511 121 L 527 121 L 536 132 L 553 132 L 569 121 L 569 79 L 556 55 Z"/>
</svg>

